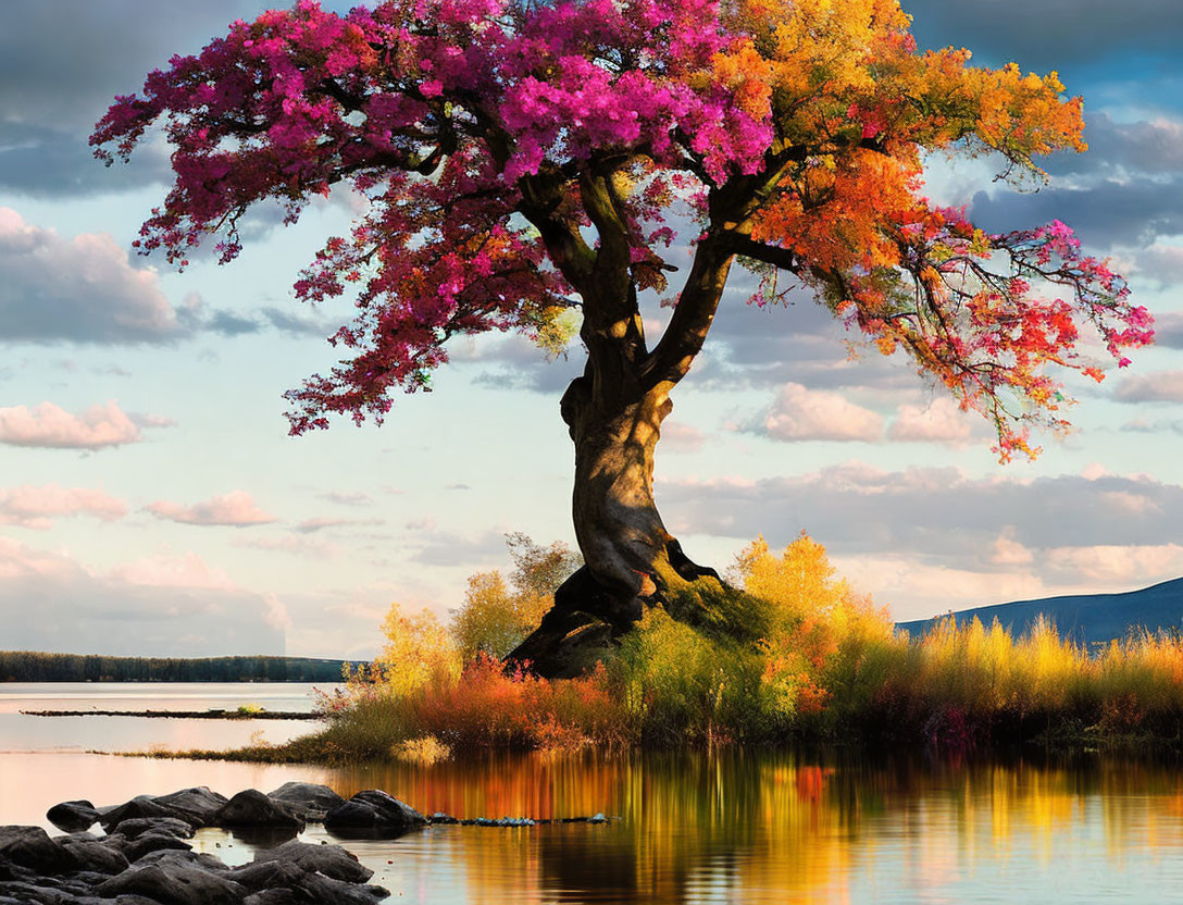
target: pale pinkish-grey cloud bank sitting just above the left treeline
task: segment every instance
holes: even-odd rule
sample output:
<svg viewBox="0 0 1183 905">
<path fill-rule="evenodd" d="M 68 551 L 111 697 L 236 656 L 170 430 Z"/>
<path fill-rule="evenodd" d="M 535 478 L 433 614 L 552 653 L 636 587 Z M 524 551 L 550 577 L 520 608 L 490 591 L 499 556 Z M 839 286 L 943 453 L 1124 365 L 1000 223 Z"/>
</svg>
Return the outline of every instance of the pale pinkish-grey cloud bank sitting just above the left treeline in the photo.
<svg viewBox="0 0 1183 905">
<path fill-rule="evenodd" d="M 104 574 L 0 537 L 0 621 L 14 649 L 283 654 L 285 620 L 273 596 L 234 587 L 195 554 L 160 552 Z"/>
</svg>

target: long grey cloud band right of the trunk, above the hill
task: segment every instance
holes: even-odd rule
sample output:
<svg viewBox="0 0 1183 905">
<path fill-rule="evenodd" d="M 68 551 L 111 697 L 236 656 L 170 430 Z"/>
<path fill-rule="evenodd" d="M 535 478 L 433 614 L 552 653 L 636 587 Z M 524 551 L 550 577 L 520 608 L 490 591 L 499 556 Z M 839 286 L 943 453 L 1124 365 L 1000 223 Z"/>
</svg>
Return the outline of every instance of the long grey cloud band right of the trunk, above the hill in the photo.
<svg viewBox="0 0 1183 905">
<path fill-rule="evenodd" d="M 968 478 L 957 468 L 862 463 L 801 478 L 660 481 L 675 532 L 784 543 L 802 529 L 834 552 L 964 556 L 1003 530 L 1045 548 L 1183 543 L 1183 486 L 1149 478 Z M 952 526 L 952 528 L 950 528 Z"/>
</svg>

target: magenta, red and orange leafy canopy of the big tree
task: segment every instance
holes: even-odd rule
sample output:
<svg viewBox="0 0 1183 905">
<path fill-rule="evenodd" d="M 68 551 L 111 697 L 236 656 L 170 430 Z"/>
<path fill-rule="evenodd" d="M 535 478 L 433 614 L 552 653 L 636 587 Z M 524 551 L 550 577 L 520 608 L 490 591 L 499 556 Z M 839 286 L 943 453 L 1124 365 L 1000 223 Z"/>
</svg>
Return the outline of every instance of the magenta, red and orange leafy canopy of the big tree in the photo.
<svg viewBox="0 0 1183 905">
<path fill-rule="evenodd" d="M 330 238 L 296 283 L 297 296 L 313 303 L 356 293 L 357 310 L 331 340 L 351 357 L 287 394 L 293 433 L 325 427 L 334 413 L 381 420 L 389 390 L 428 386 L 450 337 L 536 334 L 556 310 L 578 304 L 560 245 L 528 206 L 536 214 L 543 205 L 548 224 L 590 227 L 581 198 L 588 174 L 629 183 L 615 203 L 634 289 L 665 289 L 668 267 L 657 248 L 674 241 L 664 214 L 681 203 L 702 231 L 694 243 L 738 231 L 729 256 L 764 253 L 772 270 L 836 292 L 832 303 L 851 324 L 910 348 L 964 405 L 995 416 L 1004 453 L 1026 448 L 1026 434 L 1004 425 L 1000 389 L 1054 409 L 1046 403 L 1055 384 L 1036 366 L 1099 374 L 1073 363 L 1079 322 L 1095 324 L 1120 366 L 1123 348 L 1150 341 L 1149 315 L 1126 302 L 1120 277 L 1080 253 L 1064 224 L 981 237 L 962 213 L 930 209 L 914 190 L 918 176 L 906 164 L 922 147 L 976 134 L 1027 163 L 1030 149 L 1069 147 L 1069 127 L 1024 119 L 1017 106 L 1034 98 L 1041 116 L 1054 106 L 1054 73 L 1033 88 L 1010 70 L 970 73 L 964 52 L 918 57 L 894 0 L 859 0 L 846 12 L 851 21 L 881 21 L 864 45 L 886 62 L 868 59 L 870 75 L 836 69 L 848 60 L 822 39 L 797 73 L 789 71 L 794 47 L 817 30 L 802 25 L 790 39 L 761 17 L 804 12 L 750 6 L 744 18 L 718 0 L 386 0 L 338 15 L 299 0 L 237 21 L 200 53 L 151 72 L 141 93 L 116 98 L 91 143 L 108 162 L 125 160 L 162 124 L 176 182 L 136 245 L 181 266 L 209 234 L 224 263 L 237 257 L 239 218 L 264 199 L 282 202 L 293 222 L 335 185 L 366 194 L 368 213 L 349 235 Z M 834 21 L 834 40 L 845 40 L 848 24 Z M 912 106 L 900 88 L 907 79 L 917 97 L 929 92 Z M 1006 103 L 1019 111 L 1009 131 L 995 122 L 996 104 L 968 124 L 955 105 L 917 112 L 963 103 L 943 88 L 956 79 L 967 97 L 1009 92 Z M 1079 131 L 1079 104 L 1066 102 L 1062 112 Z M 890 173 L 864 180 L 862 153 L 903 161 L 899 185 L 884 181 Z M 826 167 L 836 170 L 828 198 L 809 188 L 823 185 L 812 174 Z M 538 201 L 541 179 L 562 185 L 557 201 Z M 843 180 L 848 203 L 833 200 Z M 741 196 L 751 207 L 735 201 Z M 742 216 L 712 219 L 723 201 Z M 759 235 L 757 201 L 776 207 L 764 218 L 775 234 Z M 841 227 L 856 218 L 892 237 L 898 259 L 851 258 Z M 988 266 L 997 256 L 1009 260 L 1006 274 Z M 924 311 L 898 308 L 885 270 L 911 271 L 940 329 L 930 329 Z M 1071 298 L 1042 300 L 1033 285 L 1047 283 Z"/>
</svg>

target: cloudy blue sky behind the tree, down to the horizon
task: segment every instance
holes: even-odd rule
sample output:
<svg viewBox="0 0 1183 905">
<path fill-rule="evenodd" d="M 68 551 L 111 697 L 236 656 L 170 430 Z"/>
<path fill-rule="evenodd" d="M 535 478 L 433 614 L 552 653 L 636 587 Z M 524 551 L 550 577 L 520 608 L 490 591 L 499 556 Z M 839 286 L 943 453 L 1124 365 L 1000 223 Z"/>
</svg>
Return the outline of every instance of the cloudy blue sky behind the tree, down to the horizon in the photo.
<svg viewBox="0 0 1183 905">
<path fill-rule="evenodd" d="M 505 534 L 574 544 L 558 397 L 580 349 L 452 347 L 382 427 L 290 438 L 282 393 L 334 363 L 342 300 L 291 284 L 355 202 L 245 225 L 220 267 L 130 252 L 168 151 L 104 168 L 86 138 L 117 93 L 271 4 L 0 5 L 0 649 L 366 657 L 392 602 L 441 618 Z M 331 4 L 329 5 L 331 6 Z M 1111 257 L 1156 348 L 1069 382 L 1077 431 L 1000 465 L 987 424 L 808 296 L 745 304 L 737 273 L 675 389 L 655 492 L 692 558 L 730 565 L 802 530 L 899 620 L 1183 575 L 1183 5 L 906 0 L 922 47 L 1055 69 L 1085 98 L 1084 155 L 1017 193 L 990 160 L 930 161 L 927 193 L 987 228 L 1060 219 Z M 684 250 L 683 250 L 684 253 Z M 677 261 L 674 261 L 677 263 Z M 662 311 L 646 309 L 651 329 Z"/>
</svg>

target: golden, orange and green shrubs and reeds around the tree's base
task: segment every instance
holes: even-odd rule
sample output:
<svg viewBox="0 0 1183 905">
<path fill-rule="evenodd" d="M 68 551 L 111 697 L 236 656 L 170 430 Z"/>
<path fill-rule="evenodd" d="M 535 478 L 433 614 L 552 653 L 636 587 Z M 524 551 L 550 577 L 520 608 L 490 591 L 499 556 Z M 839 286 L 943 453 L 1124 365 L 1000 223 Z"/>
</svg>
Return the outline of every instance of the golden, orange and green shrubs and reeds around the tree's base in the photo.
<svg viewBox="0 0 1183 905">
<path fill-rule="evenodd" d="M 429 761 L 494 748 L 1183 738 L 1177 632 L 1090 652 L 1042 619 L 1016 638 L 997 621 L 950 618 L 910 638 L 804 534 L 780 554 L 763 538 L 744 549 L 728 575 L 735 594 L 698 625 L 651 608 L 589 675 L 508 672 L 498 639 L 523 631 L 522 600 L 547 599 L 573 565 L 561 547 L 523 536 L 511 550 L 512 582 L 476 576 L 447 627 L 392 607 L 381 655 L 324 700 L 328 728 L 292 751 Z"/>
</svg>

